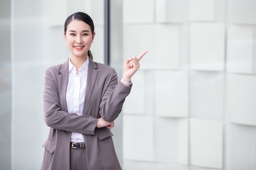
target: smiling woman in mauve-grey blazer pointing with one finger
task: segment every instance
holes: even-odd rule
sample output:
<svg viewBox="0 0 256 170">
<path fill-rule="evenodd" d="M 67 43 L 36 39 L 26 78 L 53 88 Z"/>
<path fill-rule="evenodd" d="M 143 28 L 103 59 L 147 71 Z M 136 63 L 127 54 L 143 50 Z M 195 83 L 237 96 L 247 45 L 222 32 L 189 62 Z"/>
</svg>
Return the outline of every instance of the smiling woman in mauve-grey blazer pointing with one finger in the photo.
<svg viewBox="0 0 256 170">
<path fill-rule="evenodd" d="M 69 59 L 45 71 L 42 170 L 121 170 L 109 128 L 131 90 L 139 57 L 128 58 L 118 82 L 114 68 L 92 61 L 94 24 L 89 15 L 70 15 L 64 37 Z"/>
</svg>

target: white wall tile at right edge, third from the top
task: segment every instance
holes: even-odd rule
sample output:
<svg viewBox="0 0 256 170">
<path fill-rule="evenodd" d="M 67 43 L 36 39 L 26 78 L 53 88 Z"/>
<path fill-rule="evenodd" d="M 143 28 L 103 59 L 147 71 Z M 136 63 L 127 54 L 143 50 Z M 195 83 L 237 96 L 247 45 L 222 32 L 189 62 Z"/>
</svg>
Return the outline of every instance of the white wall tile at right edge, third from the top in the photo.
<svg viewBox="0 0 256 170">
<path fill-rule="evenodd" d="M 256 76 L 229 74 L 227 79 L 230 121 L 256 126 Z"/>
</svg>

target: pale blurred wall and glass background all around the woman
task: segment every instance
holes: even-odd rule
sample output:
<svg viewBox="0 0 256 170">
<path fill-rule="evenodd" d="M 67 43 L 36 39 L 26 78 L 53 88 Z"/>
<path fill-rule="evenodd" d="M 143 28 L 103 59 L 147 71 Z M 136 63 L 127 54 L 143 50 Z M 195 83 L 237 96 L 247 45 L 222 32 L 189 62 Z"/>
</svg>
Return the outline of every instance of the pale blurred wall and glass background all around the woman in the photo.
<svg viewBox="0 0 256 170">
<path fill-rule="evenodd" d="M 67 60 L 68 15 L 104 0 L 0 0 L 0 170 L 38 170 L 44 72 Z M 148 53 L 115 121 L 124 170 L 256 170 L 256 0 L 110 0 L 110 65 Z"/>
</svg>

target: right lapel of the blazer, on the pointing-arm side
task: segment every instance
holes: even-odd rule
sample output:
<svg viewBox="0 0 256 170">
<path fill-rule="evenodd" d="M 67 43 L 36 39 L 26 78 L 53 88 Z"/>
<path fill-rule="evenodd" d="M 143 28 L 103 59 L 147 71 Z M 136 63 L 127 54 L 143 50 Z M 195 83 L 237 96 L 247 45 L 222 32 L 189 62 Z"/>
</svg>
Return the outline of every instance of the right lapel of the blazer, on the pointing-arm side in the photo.
<svg viewBox="0 0 256 170">
<path fill-rule="evenodd" d="M 98 66 L 96 65 L 95 62 L 93 62 L 89 58 L 89 65 L 88 65 L 88 73 L 87 73 L 87 83 L 86 83 L 86 89 L 85 89 L 85 99 L 84 99 L 84 104 L 83 104 L 83 115 L 85 115 L 85 111 L 88 107 L 88 103 L 90 101 L 91 95 L 92 95 L 92 90 L 94 87 L 94 84 L 97 79 L 98 75 Z"/>
</svg>

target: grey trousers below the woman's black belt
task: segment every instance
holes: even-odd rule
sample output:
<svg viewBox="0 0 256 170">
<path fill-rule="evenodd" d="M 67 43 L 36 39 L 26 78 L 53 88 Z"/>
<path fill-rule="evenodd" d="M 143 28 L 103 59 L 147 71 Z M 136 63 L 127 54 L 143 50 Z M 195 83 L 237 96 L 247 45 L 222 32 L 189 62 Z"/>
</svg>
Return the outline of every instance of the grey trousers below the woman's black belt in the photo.
<svg viewBox="0 0 256 170">
<path fill-rule="evenodd" d="M 70 170 L 87 170 L 85 148 L 70 147 Z"/>
</svg>

